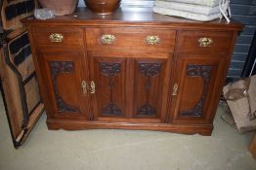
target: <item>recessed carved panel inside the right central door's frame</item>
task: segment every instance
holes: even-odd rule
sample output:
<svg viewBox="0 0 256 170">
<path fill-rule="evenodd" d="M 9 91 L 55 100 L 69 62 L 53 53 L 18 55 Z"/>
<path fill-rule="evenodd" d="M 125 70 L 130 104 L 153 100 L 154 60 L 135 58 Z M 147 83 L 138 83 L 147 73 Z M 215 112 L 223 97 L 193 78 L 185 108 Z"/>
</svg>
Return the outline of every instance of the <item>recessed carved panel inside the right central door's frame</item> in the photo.
<svg viewBox="0 0 256 170">
<path fill-rule="evenodd" d="M 135 117 L 159 116 L 165 64 L 161 59 L 136 59 Z"/>
</svg>

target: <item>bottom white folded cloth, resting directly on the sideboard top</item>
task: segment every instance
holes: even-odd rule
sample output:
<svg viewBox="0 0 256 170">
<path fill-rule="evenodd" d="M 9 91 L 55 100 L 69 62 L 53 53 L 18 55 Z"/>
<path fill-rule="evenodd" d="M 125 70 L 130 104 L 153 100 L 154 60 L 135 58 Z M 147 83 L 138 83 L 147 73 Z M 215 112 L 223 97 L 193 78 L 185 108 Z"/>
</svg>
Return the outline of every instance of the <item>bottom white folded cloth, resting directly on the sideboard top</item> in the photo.
<svg viewBox="0 0 256 170">
<path fill-rule="evenodd" d="M 200 15 L 200 14 L 195 14 L 195 13 L 190 13 L 185 11 L 172 10 L 167 8 L 160 8 L 160 7 L 153 7 L 153 12 L 161 15 L 186 17 L 186 18 L 199 20 L 199 21 L 209 21 L 209 20 L 214 20 L 216 18 L 222 17 L 221 13 L 205 16 L 205 15 Z"/>
</svg>

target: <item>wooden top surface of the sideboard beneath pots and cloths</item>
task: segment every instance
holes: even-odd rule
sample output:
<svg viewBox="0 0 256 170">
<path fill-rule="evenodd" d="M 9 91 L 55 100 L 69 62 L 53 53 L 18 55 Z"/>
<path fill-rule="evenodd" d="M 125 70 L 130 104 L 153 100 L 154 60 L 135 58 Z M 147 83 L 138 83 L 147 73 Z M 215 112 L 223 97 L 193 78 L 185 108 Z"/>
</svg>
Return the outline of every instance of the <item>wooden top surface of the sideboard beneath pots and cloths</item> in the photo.
<svg viewBox="0 0 256 170">
<path fill-rule="evenodd" d="M 47 24 L 54 25 L 70 25 L 70 26 L 149 26 L 161 25 L 161 27 L 190 27 L 190 28 L 210 28 L 231 30 L 241 30 L 242 24 L 232 20 L 228 23 L 225 19 L 216 19 L 212 21 L 202 22 L 182 17 L 169 17 L 164 15 L 155 14 L 151 8 L 119 8 L 113 15 L 100 16 L 94 15 L 87 8 L 77 8 L 77 10 L 68 16 L 54 17 L 51 19 L 40 20 L 34 17 L 27 17 L 21 20 L 23 23 L 28 24 Z"/>
</svg>

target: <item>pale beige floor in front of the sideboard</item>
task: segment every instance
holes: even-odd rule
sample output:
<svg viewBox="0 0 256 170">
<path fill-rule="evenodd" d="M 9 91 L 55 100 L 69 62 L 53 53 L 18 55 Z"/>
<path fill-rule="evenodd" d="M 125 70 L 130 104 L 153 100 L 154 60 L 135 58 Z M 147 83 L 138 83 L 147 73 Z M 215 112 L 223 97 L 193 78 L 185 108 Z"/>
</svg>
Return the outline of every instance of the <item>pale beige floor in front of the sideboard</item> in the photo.
<svg viewBox="0 0 256 170">
<path fill-rule="evenodd" d="M 140 130 L 50 131 L 43 115 L 25 144 L 13 148 L 0 98 L 0 170 L 255 170 L 253 133 L 220 116 L 212 136 Z"/>
</svg>

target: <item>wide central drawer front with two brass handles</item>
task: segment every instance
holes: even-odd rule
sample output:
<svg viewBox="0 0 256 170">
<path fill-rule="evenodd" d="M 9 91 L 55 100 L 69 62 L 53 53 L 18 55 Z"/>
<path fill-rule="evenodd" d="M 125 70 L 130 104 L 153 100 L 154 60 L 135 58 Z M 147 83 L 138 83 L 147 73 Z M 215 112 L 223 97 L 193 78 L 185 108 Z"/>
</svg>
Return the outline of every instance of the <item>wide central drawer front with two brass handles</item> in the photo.
<svg viewBox="0 0 256 170">
<path fill-rule="evenodd" d="M 87 28 L 88 50 L 174 51 L 176 31 L 143 28 Z"/>
</svg>

